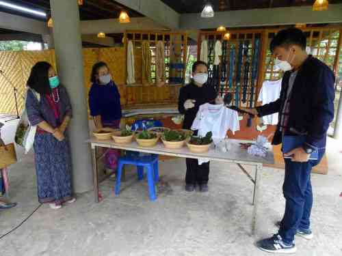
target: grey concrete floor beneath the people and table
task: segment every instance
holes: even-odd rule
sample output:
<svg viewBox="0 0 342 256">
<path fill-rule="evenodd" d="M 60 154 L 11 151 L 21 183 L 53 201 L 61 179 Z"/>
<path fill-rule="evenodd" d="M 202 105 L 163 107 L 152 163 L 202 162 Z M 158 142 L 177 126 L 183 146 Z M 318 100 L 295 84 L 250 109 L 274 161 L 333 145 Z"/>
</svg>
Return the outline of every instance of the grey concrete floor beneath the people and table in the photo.
<svg viewBox="0 0 342 256">
<path fill-rule="evenodd" d="M 329 139 L 329 173 L 313 174 L 315 238 L 297 238 L 297 255 L 342 255 L 340 145 Z M 276 232 L 274 223 L 284 212 L 282 170 L 265 168 L 261 175 L 257 234 L 252 237 L 252 184 L 238 167 L 213 162 L 206 194 L 183 190 L 184 160 L 162 162 L 160 169 L 157 201 L 148 201 L 146 182 L 137 182 L 129 172 L 119 197 L 114 197 L 114 183 L 108 180 L 101 184 L 101 203 L 94 203 L 90 192 L 60 210 L 43 205 L 0 240 L 0 255 L 267 255 L 253 244 Z M 31 154 L 10 168 L 10 182 L 10 197 L 18 206 L 0 212 L 0 236 L 38 206 Z"/>
</svg>

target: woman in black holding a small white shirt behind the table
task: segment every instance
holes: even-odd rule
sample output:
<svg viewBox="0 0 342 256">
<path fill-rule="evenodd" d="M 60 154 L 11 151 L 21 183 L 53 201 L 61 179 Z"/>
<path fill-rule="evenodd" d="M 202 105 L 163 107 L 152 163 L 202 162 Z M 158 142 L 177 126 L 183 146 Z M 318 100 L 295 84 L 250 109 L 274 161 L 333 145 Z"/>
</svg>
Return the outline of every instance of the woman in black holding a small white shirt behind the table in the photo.
<svg viewBox="0 0 342 256">
<path fill-rule="evenodd" d="M 208 66 L 203 61 L 196 61 L 192 66 L 193 80 L 179 92 L 178 109 L 184 114 L 183 129 L 190 130 L 200 105 L 213 102 L 222 103 L 220 96 L 216 97 L 215 88 L 207 83 Z M 196 134 L 196 132 L 195 132 Z M 197 159 L 186 158 L 187 174 L 185 190 L 192 192 L 198 184 L 200 192 L 208 191 L 209 162 L 198 165 Z"/>
</svg>

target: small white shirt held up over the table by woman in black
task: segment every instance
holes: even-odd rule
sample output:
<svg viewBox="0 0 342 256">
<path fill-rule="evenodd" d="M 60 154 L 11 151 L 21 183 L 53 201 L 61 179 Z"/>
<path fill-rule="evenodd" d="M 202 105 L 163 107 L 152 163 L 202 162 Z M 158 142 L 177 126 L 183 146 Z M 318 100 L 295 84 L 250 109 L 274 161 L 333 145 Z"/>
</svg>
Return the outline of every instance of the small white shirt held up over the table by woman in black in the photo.
<svg viewBox="0 0 342 256">
<path fill-rule="evenodd" d="M 213 143 L 218 145 L 226 137 L 227 131 L 240 129 L 237 111 L 228 109 L 224 104 L 202 104 L 192 123 L 192 130 L 198 130 L 198 136 L 205 137 L 207 132 L 213 133 Z M 198 159 L 198 165 L 209 162 L 207 158 Z"/>
</svg>

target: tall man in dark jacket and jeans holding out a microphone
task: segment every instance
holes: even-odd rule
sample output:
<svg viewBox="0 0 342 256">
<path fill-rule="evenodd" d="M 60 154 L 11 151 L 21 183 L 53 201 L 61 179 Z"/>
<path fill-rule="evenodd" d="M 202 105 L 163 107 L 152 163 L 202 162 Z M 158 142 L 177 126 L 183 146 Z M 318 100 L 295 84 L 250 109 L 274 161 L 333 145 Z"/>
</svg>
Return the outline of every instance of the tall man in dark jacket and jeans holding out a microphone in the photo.
<svg viewBox="0 0 342 256">
<path fill-rule="evenodd" d="M 276 34 L 271 51 L 276 65 L 285 71 L 280 98 L 276 102 L 252 109 L 259 117 L 279 113 L 273 144 L 285 136 L 304 137 L 301 147 L 285 156 L 285 181 L 282 186 L 286 200 L 285 214 L 277 223 L 280 228 L 272 238 L 257 242 L 269 253 L 294 253 L 294 236 L 313 238 L 310 214 L 313 205 L 311 169 L 324 155 L 326 136 L 334 118 L 334 74 L 315 57 L 307 55 L 306 37 L 300 29 L 285 29 Z M 318 160 L 309 160 L 318 150 Z"/>
</svg>

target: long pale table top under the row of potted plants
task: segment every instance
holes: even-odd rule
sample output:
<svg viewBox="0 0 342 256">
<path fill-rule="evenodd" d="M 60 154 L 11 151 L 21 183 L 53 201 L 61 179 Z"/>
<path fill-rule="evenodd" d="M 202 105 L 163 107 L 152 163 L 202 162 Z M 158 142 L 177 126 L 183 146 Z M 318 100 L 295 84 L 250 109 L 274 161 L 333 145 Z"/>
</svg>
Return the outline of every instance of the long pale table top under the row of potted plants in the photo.
<svg viewBox="0 0 342 256">
<path fill-rule="evenodd" d="M 267 145 L 267 156 L 265 158 L 250 156 L 247 150 L 243 150 L 239 147 L 239 143 L 248 143 L 252 141 L 241 141 L 235 139 L 229 139 L 228 152 L 220 152 L 214 150 L 213 146 L 209 149 L 209 152 L 204 154 L 196 154 L 189 151 L 185 146 L 178 150 L 170 150 L 164 147 L 163 143 L 159 142 L 155 147 L 140 147 L 135 141 L 127 145 L 119 145 L 114 143 L 114 141 L 103 141 L 98 140 L 95 137 L 88 140 L 88 143 L 92 144 L 92 147 L 111 147 L 118 150 L 131 150 L 135 152 L 144 152 L 150 154 L 160 154 L 166 156 L 176 156 L 182 158 L 208 158 L 209 160 L 223 161 L 223 162 L 235 162 L 246 165 L 256 165 L 256 164 L 274 164 L 274 154 L 272 151 L 272 145 Z"/>
</svg>

